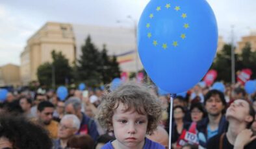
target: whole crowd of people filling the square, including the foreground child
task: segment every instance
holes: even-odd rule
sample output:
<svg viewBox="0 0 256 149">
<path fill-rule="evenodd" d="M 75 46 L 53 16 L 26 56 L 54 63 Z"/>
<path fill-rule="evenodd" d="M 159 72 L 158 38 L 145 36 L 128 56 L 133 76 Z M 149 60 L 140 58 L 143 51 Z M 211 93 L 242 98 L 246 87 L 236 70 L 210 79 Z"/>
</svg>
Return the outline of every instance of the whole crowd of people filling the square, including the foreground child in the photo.
<svg viewBox="0 0 256 149">
<path fill-rule="evenodd" d="M 194 86 L 173 99 L 172 120 L 170 95 L 155 86 L 73 87 L 64 100 L 38 87 L 0 102 L 0 148 L 256 148 L 255 111 L 239 84 Z"/>
</svg>

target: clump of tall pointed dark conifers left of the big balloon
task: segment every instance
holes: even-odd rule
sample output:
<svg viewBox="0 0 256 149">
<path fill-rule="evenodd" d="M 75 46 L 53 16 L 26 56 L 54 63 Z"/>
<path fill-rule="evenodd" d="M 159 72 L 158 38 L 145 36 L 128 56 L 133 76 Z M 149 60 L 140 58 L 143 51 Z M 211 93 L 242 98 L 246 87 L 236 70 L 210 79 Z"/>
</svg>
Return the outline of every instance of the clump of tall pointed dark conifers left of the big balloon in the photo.
<svg viewBox="0 0 256 149">
<path fill-rule="evenodd" d="M 90 87 L 109 84 L 113 78 L 120 77 L 116 56 L 108 56 L 105 45 L 103 45 L 103 50 L 99 52 L 92 43 L 90 36 L 82 47 L 82 55 L 78 60 L 76 70 L 78 80 Z"/>
</svg>

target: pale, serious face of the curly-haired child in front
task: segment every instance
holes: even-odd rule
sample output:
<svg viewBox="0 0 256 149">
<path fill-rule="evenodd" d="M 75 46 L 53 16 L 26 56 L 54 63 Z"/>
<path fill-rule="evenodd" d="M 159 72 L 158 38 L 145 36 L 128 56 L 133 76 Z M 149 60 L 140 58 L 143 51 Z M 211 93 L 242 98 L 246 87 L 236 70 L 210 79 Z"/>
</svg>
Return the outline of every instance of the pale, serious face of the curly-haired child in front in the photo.
<svg viewBox="0 0 256 149">
<path fill-rule="evenodd" d="M 120 103 L 112 117 L 118 148 L 142 148 L 147 132 L 147 115 L 138 114 L 133 108 L 125 111 Z"/>
</svg>

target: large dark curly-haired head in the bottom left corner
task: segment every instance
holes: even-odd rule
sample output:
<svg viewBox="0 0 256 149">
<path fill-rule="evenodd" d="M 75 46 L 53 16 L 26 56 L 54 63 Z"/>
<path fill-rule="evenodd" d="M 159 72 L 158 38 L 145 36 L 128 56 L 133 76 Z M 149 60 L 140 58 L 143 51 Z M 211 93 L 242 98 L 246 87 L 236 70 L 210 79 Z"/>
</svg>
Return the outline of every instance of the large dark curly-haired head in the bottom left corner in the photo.
<svg viewBox="0 0 256 149">
<path fill-rule="evenodd" d="M 48 133 L 23 117 L 0 115 L 0 148 L 51 149 Z"/>
</svg>

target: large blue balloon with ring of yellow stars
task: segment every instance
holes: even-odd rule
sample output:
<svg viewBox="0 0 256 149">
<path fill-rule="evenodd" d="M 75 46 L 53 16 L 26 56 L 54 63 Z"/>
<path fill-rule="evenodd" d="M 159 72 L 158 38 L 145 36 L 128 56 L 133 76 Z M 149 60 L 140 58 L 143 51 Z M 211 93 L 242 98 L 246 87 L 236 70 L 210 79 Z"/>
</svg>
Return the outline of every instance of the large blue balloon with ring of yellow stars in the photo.
<svg viewBox="0 0 256 149">
<path fill-rule="evenodd" d="M 216 18 L 205 0 L 149 1 L 137 36 L 147 75 L 169 93 L 188 91 L 203 78 L 218 43 Z"/>
</svg>

